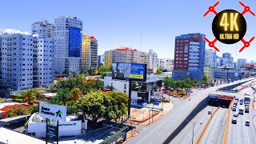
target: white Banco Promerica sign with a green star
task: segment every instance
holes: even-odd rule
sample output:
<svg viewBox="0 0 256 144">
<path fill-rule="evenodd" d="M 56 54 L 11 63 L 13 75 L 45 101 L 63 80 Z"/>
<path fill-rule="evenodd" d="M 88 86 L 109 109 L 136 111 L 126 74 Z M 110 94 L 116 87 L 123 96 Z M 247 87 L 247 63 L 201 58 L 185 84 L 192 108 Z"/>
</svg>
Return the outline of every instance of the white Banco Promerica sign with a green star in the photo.
<svg viewBox="0 0 256 144">
<path fill-rule="evenodd" d="M 40 102 L 39 115 L 42 118 L 51 118 L 54 120 L 66 122 L 66 106 L 58 106 Z"/>
</svg>

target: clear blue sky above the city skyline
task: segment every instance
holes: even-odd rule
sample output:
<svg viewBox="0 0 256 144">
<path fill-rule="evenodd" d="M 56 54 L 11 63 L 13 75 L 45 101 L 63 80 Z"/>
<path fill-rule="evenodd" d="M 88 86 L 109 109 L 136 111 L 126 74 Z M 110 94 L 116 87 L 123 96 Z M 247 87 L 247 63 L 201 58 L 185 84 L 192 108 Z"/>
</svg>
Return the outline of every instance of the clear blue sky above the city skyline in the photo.
<svg viewBox="0 0 256 144">
<path fill-rule="evenodd" d="M 29 31 L 38 20 L 62 15 L 76 16 L 83 21 L 83 32 L 98 38 L 98 51 L 128 46 L 138 50 L 153 49 L 160 58 L 174 58 L 174 38 L 179 34 L 203 33 L 214 39 L 211 22 L 214 14 L 202 15 L 215 0 L 44 0 L 44 1 L 2 1 L 0 28 Z M 222 0 L 216 7 L 219 12 L 234 9 L 242 12 L 237 0 Z M 243 0 L 256 14 L 256 1 Z M 256 17 L 245 14 L 248 41 L 256 36 Z M 142 48 L 141 48 L 142 34 Z M 226 45 L 217 42 L 221 50 L 218 55 L 230 52 L 234 58 L 256 60 L 256 39 L 242 53 L 238 53 L 242 42 Z M 208 46 L 206 46 L 208 48 Z"/>
</svg>

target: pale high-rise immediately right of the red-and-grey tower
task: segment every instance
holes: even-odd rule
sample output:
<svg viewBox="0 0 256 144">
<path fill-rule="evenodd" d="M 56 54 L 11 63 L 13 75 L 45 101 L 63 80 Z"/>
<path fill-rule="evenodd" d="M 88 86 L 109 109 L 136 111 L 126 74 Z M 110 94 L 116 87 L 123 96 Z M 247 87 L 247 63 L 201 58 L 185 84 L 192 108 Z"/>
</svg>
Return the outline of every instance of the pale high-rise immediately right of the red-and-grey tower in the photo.
<svg viewBox="0 0 256 144">
<path fill-rule="evenodd" d="M 216 67 L 216 50 L 206 49 L 205 66 Z"/>
</svg>

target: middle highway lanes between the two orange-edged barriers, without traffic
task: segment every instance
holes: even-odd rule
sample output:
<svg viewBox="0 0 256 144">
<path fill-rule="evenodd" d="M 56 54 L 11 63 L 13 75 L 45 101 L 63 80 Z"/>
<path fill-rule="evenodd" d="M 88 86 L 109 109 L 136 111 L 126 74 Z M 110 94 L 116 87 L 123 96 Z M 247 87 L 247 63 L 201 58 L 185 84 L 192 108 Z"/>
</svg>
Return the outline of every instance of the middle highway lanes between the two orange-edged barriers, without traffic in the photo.
<svg viewBox="0 0 256 144">
<path fill-rule="evenodd" d="M 222 143 L 228 109 L 220 107 L 207 126 L 200 143 Z"/>
</svg>

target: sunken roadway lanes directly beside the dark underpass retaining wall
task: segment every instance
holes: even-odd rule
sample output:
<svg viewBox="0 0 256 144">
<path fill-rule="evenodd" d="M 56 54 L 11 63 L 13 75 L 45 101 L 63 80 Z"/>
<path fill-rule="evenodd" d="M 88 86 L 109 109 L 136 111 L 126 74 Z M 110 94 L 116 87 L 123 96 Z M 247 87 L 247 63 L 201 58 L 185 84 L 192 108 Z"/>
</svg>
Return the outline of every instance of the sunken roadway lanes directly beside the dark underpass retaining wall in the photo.
<svg viewBox="0 0 256 144">
<path fill-rule="evenodd" d="M 214 110 L 216 110 L 217 107 L 214 107 Z M 200 113 L 198 113 L 191 122 L 202 122 L 202 125 L 199 123 L 194 125 L 194 141 L 195 142 L 200 135 L 202 129 L 204 126 L 206 126 L 206 122 L 210 119 L 210 114 L 208 114 L 208 110 L 212 110 L 211 106 L 206 106 L 205 109 L 201 110 Z M 181 143 L 191 143 L 192 142 L 192 134 L 193 134 L 193 124 L 189 123 L 186 125 L 186 127 L 174 138 L 171 144 Z"/>
</svg>

